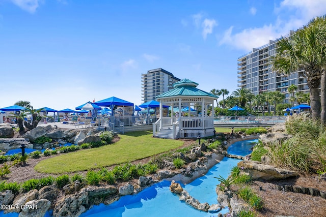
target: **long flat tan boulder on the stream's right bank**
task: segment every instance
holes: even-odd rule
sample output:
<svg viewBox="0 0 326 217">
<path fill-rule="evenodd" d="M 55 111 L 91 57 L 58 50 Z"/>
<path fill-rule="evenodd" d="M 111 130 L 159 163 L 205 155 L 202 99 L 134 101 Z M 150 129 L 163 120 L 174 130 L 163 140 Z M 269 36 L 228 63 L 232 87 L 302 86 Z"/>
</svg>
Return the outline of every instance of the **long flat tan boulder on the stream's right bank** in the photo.
<svg viewBox="0 0 326 217">
<path fill-rule="evenodd" d="M 243 174 L 250 175 L 253 179 L 285 179 L 298 175 L 295 171 L 261 164 L 258 161 L 241 161 L 238 167 L 242 169 Z"/>
</svg>

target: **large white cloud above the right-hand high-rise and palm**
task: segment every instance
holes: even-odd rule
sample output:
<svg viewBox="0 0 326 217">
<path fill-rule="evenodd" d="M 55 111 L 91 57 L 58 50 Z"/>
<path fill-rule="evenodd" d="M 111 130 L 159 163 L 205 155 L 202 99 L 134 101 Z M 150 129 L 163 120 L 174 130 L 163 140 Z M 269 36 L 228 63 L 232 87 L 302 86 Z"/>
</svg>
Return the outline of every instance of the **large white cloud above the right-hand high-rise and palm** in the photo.
<svg viewBox="0 0 326 217">
<path fill-rule="evenodd" d="M 274 10 L 278 15 L 274 23 L 243 29 L 238 33 L 233 33 L 231 26 L 225 31 L 219 44 L 249 51 L 268 43 L 269 40 L 287 35 L 290 30 L 302 27 L 312 18 L 325 14 L 325 11 L 325 0 L 284 0 Z"/>
</svg>

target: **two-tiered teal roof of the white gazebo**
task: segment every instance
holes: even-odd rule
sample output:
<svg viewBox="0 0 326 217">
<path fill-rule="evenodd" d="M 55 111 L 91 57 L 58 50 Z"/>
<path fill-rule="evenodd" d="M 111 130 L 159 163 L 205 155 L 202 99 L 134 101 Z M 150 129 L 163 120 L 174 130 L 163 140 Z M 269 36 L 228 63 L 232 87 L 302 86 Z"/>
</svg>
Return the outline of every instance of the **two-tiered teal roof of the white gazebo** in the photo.
<svg viewBox="0 0 326 217">
<path fill-rule="evenodd" d="M 210 94 L 204 90 L 200 90 L 196 88 L 198 83 L 189 80 L 187 78 L 182 79 L 173 84 L 173 89 L 164 92 L 156 97 L 158 98 L 170 98 L 170 97 L 177 97 L 177 96 L 198 96 L 198 97 L 211 97 L 211 98 L 218 98 L 217 96 Z"/>
</svg>

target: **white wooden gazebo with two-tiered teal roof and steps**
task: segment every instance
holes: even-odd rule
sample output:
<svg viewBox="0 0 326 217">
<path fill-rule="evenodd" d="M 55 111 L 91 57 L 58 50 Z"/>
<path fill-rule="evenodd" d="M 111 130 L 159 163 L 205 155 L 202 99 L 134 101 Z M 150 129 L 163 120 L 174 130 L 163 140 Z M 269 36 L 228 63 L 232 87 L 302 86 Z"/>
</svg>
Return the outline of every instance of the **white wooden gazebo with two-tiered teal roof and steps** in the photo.
<svg viewBox="0 0 326 217">
<path fill-rule="evenodd" d="M 160 112 L 159 119 L 153 123 L 153 136 L 160 138 L 197 138 L 214 135 L 214 115 L 207 115 L 211 107 L 214 111 L 214 100 L 218 97 L 196 88 L 198 83 L 182 79 L 174 83 L 173 89 L 156 97 L 160 111 L 163 106 L 171 107 L 171 113 Z M 193 108 L 197 113 L 175 113 L 182 108 Z M 186 115 L 182 115 L 186 114 Z"/>
</svg>

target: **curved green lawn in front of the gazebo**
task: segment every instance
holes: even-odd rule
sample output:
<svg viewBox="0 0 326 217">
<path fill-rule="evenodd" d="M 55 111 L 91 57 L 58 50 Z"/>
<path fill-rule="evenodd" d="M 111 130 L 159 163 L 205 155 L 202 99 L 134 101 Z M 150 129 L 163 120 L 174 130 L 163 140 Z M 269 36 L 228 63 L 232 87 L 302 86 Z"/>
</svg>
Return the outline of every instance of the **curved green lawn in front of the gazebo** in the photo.
<svg viewBox="0 0 326 217">
<path fill-rule="evenodd" d="M 35 166 L 35 170 L 42 173 L 62 174 L 101 168 L 143 159 L 183 145 L 183 141 L 179 140 L 153 138 L 149 131 L 128 132 L 119 137 L 121 139 L 114 144 L 83 149 L 43 160 Z"/>
</svg>

